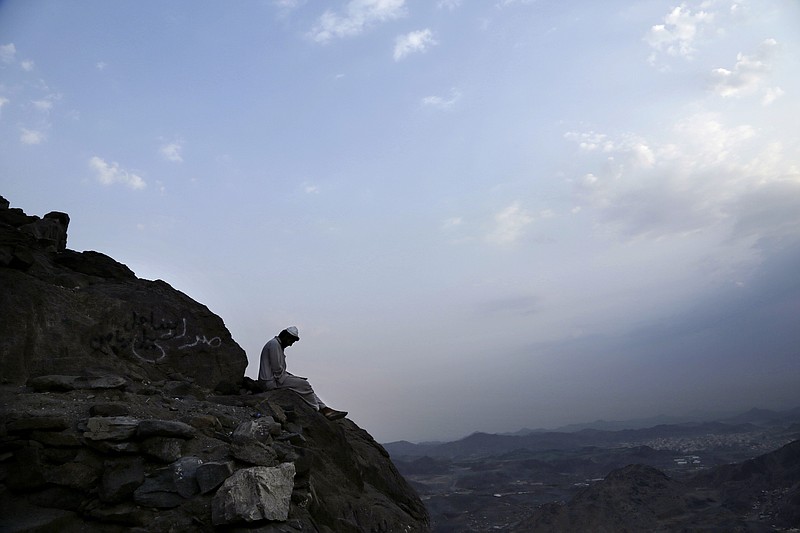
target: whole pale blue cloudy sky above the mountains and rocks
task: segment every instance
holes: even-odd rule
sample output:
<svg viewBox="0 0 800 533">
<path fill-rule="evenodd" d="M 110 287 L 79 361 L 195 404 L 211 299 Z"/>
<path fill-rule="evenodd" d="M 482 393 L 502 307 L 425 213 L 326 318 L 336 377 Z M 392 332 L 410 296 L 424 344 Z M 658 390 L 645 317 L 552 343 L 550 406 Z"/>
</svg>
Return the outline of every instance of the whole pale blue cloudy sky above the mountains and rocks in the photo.
<svg viewBox="0 0 800 533">
<path fill-rule="evenodd" d="M 379 442 L 800 405 L 800 3 L 0 1 L 0 194 Z"/>
</svg>

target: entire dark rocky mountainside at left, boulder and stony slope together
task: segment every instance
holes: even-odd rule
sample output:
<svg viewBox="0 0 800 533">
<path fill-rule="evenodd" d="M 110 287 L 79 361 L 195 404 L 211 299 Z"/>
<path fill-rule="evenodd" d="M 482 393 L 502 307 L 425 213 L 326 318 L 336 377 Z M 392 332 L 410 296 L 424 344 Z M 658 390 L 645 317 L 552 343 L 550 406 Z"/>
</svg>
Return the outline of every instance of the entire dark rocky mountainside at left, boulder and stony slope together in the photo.
<svg viewBox="0 0 800 533">
<path fill-rule="evenodd" d="M 222 320 L 0 198 L 0 531 L 427 531 L 386 451 L 252 394 Z"/>
</svg>

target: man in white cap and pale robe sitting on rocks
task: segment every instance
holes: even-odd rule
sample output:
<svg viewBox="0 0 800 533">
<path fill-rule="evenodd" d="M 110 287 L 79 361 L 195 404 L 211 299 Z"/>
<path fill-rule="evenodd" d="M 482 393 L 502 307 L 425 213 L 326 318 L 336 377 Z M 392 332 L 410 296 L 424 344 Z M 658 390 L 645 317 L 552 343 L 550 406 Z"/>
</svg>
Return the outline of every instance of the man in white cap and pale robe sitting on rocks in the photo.
<svg viewBox="0 0 800 533">
<path fill-rule="evenodd" d="M 261 365 L 258 368 L 258 384 L 263 390 L 289 389 L 299 394 L 305 402 L 317 409 L 328 420 L 338 420 L 347 416 L 345 411 L 337 411 L 325 405 L 314 393 L 307 378 L 295 376 L 286 371 L 286 355 L 283 351 L 300 340 L 295 326 L 289 326 L 271 338 L 261 350 Z"/>
</svg>

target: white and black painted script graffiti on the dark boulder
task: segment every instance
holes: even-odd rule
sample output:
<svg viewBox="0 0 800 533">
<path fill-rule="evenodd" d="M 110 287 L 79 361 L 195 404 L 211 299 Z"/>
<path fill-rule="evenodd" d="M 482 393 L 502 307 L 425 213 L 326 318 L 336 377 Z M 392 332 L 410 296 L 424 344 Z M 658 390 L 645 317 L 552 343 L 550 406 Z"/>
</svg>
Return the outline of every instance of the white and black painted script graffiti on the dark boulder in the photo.
<svg viewBox="0 0 800 533">
<path fill-rule="evenodd" d="M 152 311 L 146 315 L 134 311 L 120 326 L 95 335 L 91 339 L 91 346 L 102 352 L 110 350 L 116 355 L 130 350 L 142 361 L 158 363 L 175 350 L 219 348 L 222 345 L 219 337 L 209 338 L 203 333 L 189 333 L 188 330 L 186 318 L 156 320 Z"/>
</svg>

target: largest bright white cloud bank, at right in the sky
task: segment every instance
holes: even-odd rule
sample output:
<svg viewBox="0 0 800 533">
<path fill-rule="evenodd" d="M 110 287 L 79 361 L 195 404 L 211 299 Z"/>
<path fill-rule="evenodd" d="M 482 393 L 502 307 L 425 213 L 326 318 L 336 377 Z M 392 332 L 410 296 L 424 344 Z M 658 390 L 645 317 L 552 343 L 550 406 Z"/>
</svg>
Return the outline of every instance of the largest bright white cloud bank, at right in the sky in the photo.
<svg viewBox="0 0 800 533">
<path fill-rule="evenodd" d="M 713 113 L 679 120 L 668 136 L 567 134 L 592 160 L 573 182 L 576 203 L 626 237 L 686 234 L 736 220 L 743 198 L 797 173 L 779 141 Z"/>
</svg>

